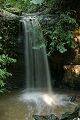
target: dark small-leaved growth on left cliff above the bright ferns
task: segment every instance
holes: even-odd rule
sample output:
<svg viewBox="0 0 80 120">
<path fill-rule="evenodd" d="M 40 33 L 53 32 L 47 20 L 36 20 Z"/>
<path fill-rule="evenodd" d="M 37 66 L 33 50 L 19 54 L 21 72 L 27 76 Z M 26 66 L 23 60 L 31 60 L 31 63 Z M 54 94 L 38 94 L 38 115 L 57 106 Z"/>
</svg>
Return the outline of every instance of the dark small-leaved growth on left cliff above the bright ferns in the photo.
<svg viewBox="0 0 80 120">
<path fill-rule="evenodd" d="M 2 18 L 2 17 L 1 17 Z M 0 19 L 0 54 L 8 55 L 11 58 L 17 57 L 17 36 L 18 36 L 18 19 L 7 20 Z"/>
</svg>

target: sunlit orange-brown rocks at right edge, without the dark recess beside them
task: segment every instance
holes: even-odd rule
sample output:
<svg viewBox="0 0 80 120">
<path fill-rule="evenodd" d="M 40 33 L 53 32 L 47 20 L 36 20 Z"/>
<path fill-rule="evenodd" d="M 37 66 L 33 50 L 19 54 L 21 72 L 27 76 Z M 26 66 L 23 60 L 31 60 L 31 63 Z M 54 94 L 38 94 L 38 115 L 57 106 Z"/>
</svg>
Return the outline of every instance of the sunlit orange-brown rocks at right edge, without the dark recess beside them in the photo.
<svg viewBox="0 0 80 120">
<path fill-rule="evenodd" d="M 80 88 L 80 30 L 75 31 L 74 57 L 64 65 L 63 81 L 70 87 Z"/>
</svg>

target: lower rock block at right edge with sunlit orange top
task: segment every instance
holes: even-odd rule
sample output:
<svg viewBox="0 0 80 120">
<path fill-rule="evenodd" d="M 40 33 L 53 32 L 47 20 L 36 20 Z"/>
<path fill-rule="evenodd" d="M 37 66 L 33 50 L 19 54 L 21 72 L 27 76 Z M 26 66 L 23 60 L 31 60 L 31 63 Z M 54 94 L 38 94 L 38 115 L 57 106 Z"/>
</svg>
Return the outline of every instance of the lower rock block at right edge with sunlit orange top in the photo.
<svg viewBox="0 0 80 120">
<path fill-rule="evenodd" d="M 70 88 L 80 89 L 80 65 L 64 65 L 63 82 Z"/>
</svg>

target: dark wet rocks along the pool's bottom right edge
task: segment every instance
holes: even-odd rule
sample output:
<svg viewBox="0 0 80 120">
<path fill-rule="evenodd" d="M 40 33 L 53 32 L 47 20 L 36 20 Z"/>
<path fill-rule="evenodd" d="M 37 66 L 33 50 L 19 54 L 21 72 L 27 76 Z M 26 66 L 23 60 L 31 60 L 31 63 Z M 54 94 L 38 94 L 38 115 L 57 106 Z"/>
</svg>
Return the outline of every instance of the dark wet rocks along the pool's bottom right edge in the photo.
<svg viewBox="0 0 80 120">
<path fill-rule="evenodd" d="M 79 112 L 80 112 L 80 106 L 77 106 L 72 113 L 65 112 L 64 114 L 62 114 L 60 119 L 54 114 L 45 115 L 45 116 L 33 115 L 33 118 L 35 120 L 80 120 Z"/>
</svg>

